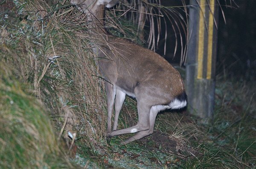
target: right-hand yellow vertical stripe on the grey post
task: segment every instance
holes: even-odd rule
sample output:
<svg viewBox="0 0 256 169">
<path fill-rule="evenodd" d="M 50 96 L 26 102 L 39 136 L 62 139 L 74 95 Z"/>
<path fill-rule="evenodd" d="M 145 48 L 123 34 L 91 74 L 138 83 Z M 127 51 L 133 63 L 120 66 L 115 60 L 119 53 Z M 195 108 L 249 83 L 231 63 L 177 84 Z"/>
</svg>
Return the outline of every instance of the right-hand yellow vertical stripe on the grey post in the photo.
<svg viewBox="0 0 256 169">
<path fill-rule="evenodd" d="M 207 54 L 207 77 L 211 79 L 212 76 L 212 37 L 213 37 L 213 15 L 214 15 L 214 0 L 210 0 L 209 8 L 209 25 L 208 25 L 208 54 Z"/>
</svg>

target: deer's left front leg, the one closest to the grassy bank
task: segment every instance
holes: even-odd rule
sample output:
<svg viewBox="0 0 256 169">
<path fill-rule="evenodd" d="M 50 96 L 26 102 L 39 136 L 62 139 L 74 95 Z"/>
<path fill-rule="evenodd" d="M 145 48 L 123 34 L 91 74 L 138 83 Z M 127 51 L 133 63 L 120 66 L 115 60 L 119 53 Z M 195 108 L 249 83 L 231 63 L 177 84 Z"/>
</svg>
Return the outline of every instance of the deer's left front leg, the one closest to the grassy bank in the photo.
<svg viewBox="0 0 256 169">
<path fill-rule="evenodd" d="M 107 135 L 111 133 L 111 118 L 113 113 L 114 107 L 114 99 L 116 96 L 116 87 L 110 84 L 109 82 L 105 83 L 105 89 L 107 93 L 107 106 L 108 106 L 108 128 L 107 128 Z"/>
</svg>

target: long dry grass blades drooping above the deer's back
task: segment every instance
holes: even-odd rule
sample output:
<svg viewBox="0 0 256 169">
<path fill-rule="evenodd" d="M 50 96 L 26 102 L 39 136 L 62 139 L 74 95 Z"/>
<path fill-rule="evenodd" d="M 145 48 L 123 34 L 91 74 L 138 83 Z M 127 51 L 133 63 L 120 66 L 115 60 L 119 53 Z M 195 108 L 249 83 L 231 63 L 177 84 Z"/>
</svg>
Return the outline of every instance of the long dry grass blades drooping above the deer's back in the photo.
<svg viewBox="0 0 256 169">
<path fill-rule="evenodd" d="M 186 60 L 186 44 L 189 40 L 187 36 L 188 11 L 185 0 L 176 2 L 177 6 L 167 7 L 162 3 L 161 0 L 120 1 L 116 8 L 106 13 L 107 24 L 115 29 L 114 33 L 117 31 L 118 36 L 134 40 L 134 35 L 136 35 L 137 42 L 147 44 L 147 48 L 153 51 L 163 48 L 164 55 L 166 54 L 167 36 L 173 35 L 175 40 L 172 53 L 174 56 L 180 54 L 178 57 L 180 57 L 181 65 Z M 126 25 L 124 20 L 128 20 L 130 24 Z M 131 25 L 137 25 L 137 27 L 131 28 Z M 132 36 L 129 36 L 131 34 Z"/>
</svg>

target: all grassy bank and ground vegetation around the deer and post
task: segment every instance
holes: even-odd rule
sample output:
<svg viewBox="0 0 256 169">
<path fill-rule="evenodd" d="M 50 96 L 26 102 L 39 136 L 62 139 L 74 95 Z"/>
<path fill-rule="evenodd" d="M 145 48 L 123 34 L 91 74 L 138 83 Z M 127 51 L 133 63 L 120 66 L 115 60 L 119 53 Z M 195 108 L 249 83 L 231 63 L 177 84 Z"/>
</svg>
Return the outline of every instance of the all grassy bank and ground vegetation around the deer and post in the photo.
<svg viewBox="0 0 256 169">
<path fill-rule="evenodd" d="M 213 123 L 163 112 L 151 136 L 108 144 L 84 16 L 66 0 L 14 2 L 0 4 L 0 168 L 255 168 L 255 86 L 218 77 Z M 127 98 L 118 127 L 136 112 Z"/>
</svg>

